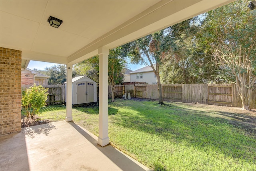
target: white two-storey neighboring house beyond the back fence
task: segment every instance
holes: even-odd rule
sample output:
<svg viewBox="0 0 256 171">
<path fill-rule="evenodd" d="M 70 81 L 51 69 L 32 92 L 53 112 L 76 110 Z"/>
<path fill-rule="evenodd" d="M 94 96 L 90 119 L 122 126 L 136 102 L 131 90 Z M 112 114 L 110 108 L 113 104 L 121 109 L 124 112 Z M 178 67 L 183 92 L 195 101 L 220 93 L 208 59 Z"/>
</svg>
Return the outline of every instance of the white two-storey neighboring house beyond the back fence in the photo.
<svg viewBox="0 0 256 171">
<path fill-rule="evenodd" d="M 154 65 L 155 66 L 155 65 Z M 157 83 L 156 75 L 149 66 L 132 71 L 130 74 L 130 82 L 146 82 L 146 84 L 154 85 Z"/>
</svg>

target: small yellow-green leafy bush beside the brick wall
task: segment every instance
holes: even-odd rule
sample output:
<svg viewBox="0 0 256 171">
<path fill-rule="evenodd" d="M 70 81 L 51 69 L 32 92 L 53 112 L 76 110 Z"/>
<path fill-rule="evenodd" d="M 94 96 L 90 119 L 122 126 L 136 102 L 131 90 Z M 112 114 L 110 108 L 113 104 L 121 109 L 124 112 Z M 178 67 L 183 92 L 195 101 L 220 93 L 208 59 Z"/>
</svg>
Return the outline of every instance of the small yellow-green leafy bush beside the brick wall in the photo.
<svg viewBox="0 0 256 171">
<path fill-rule="evenodd" d="M 41 85 L 33 85 L 22 93 L 21 103 L 27 119 L 34 120 L 34 116 L 39 112 L 40 108 L 46 105 L 47 90 Z"/>
</svg>

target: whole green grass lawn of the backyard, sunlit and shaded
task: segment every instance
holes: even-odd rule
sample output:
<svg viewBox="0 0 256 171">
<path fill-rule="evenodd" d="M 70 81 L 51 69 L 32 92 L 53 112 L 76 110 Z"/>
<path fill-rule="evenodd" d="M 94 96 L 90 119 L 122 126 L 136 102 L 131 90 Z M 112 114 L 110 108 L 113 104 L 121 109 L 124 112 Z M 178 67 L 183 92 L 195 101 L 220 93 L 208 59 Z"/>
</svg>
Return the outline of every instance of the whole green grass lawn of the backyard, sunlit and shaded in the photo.
<svg viewBox="0 0 256 171">
<path fill-rule="evenodd" d="M 109 103 L 116 148 L 155 171 L 256 171 L 256 113 L 201 104 L 121 100 Z M 64 120 L 65 106 L 38 115 Z M 72 109 L 73 121 L 98 135 L 98 107 Z"/>
</svg>

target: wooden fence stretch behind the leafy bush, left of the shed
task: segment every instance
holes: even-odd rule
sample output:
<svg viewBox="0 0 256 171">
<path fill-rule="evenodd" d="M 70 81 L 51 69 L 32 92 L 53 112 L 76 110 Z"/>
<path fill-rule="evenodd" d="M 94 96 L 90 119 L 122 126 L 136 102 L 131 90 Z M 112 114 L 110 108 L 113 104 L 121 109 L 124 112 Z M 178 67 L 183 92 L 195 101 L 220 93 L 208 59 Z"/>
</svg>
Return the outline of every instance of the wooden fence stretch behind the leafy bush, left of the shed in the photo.
<svg viewBox="0 0 256 171">
<path fill-rule="evenodd" d="M 22 85 L 23 88 L 29 88 L 31 85 Z M 48 88 L 47 105 L 62 104 L 65 102 L 65 87 L 64 85 L 42 85 Z"/>
</svg>

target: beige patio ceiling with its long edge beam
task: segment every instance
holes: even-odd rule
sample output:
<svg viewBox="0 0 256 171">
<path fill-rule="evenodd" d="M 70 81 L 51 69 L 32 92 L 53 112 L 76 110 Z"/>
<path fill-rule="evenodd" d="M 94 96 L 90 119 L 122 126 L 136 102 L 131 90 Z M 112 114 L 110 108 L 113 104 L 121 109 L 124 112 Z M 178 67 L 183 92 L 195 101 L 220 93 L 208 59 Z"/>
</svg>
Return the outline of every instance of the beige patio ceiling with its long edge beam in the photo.
<svg viewBox="0 0 256 171">
<path fill-rule="evenodd" d="M 75 64 L 233 0 L 1 0 L 0 46 L 22 60 Z M 63 20 L 56 29 L 49 16 Z"/>
</svg>

